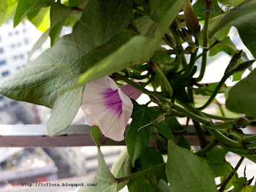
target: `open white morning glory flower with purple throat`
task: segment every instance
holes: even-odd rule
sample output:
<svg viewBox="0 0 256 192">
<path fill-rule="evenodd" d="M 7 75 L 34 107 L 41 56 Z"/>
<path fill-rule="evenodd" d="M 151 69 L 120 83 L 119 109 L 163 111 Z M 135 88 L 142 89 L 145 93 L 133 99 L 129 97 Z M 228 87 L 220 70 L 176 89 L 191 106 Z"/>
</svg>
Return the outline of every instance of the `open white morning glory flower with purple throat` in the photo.
<svg viewBox="0 0 256 192">
<path fill-rule="evenodd" d="M 97 125 L 104 136 L 124 140 L 125 127 L 132 115 L 129 97 L 138 99 L 141 92 L 129 84 L 118 88 L 110 77 L 87 83 L 81 109 L 88 125 Z"/>
</svg>

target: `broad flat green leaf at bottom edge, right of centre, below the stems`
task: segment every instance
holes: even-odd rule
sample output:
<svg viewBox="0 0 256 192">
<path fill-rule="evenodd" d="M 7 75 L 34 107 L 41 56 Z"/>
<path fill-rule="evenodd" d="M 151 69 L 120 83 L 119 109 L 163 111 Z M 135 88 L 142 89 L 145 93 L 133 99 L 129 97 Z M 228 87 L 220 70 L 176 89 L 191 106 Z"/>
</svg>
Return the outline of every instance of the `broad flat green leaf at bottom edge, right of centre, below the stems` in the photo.
<svg viewBox="0 0 256 192">
<path fill-rule="evenodd" d="M 217 191 L 207 162 L 170 140 L 166 174 L 172 191 Z"/>
</svg>

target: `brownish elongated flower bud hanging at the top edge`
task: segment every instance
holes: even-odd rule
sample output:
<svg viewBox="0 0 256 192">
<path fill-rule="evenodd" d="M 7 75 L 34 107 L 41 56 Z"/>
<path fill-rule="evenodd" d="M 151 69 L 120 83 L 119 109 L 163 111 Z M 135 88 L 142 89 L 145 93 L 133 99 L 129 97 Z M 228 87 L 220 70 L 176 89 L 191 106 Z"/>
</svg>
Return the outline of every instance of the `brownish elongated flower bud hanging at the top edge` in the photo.
<svg viewBox="0 0 256 192">
<path fill-rule="evenodd" d="M 185 0 L 185 6 L 183 8 L 186 26 L 188 31 L 193 36 L 198 36 L 200 33 L 200 25 L 196 17 L 196 13 L 189 0 Z"/>
</svg>

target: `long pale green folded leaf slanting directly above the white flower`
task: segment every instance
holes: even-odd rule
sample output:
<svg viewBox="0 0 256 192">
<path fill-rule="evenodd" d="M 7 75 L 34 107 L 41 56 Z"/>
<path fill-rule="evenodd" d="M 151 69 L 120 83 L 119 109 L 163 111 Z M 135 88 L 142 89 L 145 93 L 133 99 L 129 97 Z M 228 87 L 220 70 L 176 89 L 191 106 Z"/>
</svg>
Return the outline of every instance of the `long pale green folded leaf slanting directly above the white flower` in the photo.
<svg viewBox="0 0 256 192">
<path fill-rule="evenodd" d="M 172 1 L 172 6 L 170 6 L 170 9 L 166 12 L 156 28 L 154 38 L 134 36 L 121 49 L 118 49 L 118 51 L 110 54 L 104 60 L 99 61 L 97 65 L 87 70 L 79 79 L 79 83 L 88 83 L 100 77 L 108 76 L 121 68 L 149 61 L 150 57 L 156 51 L 157 45 L 159 45 L 164 33 L 177 13 L 179 13 L 179 10 L 182 9 L 183 3 L 184 0 Z"/>
</svg>

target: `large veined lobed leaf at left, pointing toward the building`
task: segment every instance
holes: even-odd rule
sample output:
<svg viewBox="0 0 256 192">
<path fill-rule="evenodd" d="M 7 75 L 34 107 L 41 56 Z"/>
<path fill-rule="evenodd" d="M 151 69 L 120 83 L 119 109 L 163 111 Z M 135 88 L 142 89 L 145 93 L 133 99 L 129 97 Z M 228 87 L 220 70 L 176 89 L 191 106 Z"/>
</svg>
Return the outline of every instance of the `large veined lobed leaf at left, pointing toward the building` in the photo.
<svg viewBox="0 0 256 192">
<path fill-rule="evenodd" d="M 74 32 L 63 36 L 24 70 L 1 82 L 0 93 L 12 99 L 51 108 L 52 115 L 47 122 L 50 136 L 67 129 L 81 106 L 83 86 L 65 93 L 63 90 L 76 84 L 85 70 L 131 38 L 131 32 L 124 31 L 124 24 L 131 17 L 129 5 L 128 1 L 123 1 L 120 6 L 127 12 L 113 10 L 110 15 L 106 7 L 109 6 L 111 10 L 111 1 L 108 4 L 90 1 Z M 93 9 L 101 10 L 102 13 L 95 14 Z M 97 22 L 91 20 L 92 17 Z M 115 17 L 119 17 L 122 22 L 113 24 L 111 19 Z M 81 38 L 81 35 L 87 38 Z"/>
</svg>

